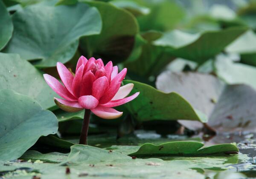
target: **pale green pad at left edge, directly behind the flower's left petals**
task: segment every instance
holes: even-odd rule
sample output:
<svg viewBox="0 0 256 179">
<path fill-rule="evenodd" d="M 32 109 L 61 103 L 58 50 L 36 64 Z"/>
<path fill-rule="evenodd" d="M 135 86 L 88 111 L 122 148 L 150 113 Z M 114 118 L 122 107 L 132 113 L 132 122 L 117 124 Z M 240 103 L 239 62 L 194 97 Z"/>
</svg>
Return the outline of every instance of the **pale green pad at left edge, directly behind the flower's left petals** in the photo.
<svg viewBox="0 0 256 179">
<path fill-rule="evenodd" d="M 11 89 L 38 101 L 44 109 L 55 106 L 58 96 L 44 81 L 43 75 L 17 54 L 0 53 L 0 89 Z"/>
</svg>

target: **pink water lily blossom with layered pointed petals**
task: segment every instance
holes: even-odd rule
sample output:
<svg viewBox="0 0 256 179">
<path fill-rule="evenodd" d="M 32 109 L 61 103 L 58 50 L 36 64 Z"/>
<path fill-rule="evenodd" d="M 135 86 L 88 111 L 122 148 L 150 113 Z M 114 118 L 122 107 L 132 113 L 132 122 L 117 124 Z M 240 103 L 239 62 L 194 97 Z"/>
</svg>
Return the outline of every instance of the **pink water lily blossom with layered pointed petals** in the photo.
<svg viewBox="0 0 256 179">
<path fill-rule="evenodd" d="M 112 107 L 125 104 L 140 93 L 136 92 L 125 98 L 134 84 L 120 87 L 127 69 L 124 68 L 118 73 L 117 66 L 113 66 L 111 61 L 104 66 L 102 59 L 87 60 L 81 56 L 77 62 L 75 75 L 60 62 L 57 63 L 57 69 L 64 86 L 51 75 L 44 74 L 44 79 L 52 90 L 64 98 L 55 98 L 55 103 L 68 112 L 87 109 L 100 118 L 119 118 L 122 112 Z"/>
</svg>

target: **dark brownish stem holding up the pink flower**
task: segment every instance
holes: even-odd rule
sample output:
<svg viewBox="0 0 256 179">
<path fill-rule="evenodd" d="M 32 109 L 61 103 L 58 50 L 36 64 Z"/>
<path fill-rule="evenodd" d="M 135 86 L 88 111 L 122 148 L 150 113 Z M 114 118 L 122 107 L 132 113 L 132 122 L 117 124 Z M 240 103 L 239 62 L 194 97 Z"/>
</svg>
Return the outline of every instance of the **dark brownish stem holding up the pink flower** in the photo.
<svg viewBox="0 0 256 179">
<path fill-rule="evenodd" d="M 85 110 L 79 144 L 87 145 L 87 134 L 89 129 L 89 123 L 90 123 L 90 110 Z"/>
</svg>

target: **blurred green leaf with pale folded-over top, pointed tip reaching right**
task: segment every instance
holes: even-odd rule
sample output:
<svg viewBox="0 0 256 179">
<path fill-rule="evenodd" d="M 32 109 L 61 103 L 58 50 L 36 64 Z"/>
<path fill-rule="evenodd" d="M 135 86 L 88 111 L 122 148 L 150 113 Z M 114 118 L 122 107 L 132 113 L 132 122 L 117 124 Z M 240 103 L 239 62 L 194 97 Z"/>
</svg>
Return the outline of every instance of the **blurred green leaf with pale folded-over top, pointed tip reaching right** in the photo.
<svg viewBox="0 0 256 179">
<path fill-rule="evenodd" d="M 202 34 L 189 34 L 174 30 L 165 33 L 163 37 L 154 41 L 154 44 L 166 47 L 167 52 L 171 55 L 203 64 L 224 50 L 246 30 L 246 27 L 232 27 Z"/>
</svg>

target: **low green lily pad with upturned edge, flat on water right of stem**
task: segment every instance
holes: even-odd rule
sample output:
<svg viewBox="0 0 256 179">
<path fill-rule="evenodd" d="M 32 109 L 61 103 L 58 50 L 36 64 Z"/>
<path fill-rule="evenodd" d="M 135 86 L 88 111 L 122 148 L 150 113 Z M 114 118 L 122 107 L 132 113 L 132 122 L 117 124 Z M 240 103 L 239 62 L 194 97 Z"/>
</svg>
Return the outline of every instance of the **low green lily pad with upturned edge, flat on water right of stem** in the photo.
<svg viewBox="0 0 256 179">
<path fill-rule="evenodd" d="M 203 147 L 204 144 L 195 141 L 167 142 L 160 145 L 150 143 L 143 144 L 140 149 L 129 156 L 184 156 L 184 155 L 210 155 L 224 153 L 238 153 L 234 144 L 218 144 Z"/>
</svg>

